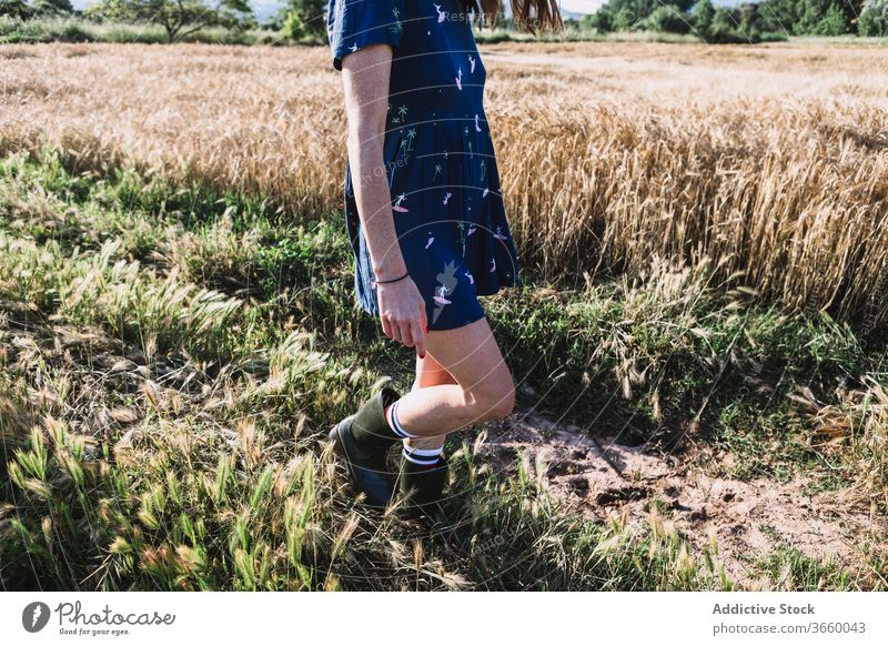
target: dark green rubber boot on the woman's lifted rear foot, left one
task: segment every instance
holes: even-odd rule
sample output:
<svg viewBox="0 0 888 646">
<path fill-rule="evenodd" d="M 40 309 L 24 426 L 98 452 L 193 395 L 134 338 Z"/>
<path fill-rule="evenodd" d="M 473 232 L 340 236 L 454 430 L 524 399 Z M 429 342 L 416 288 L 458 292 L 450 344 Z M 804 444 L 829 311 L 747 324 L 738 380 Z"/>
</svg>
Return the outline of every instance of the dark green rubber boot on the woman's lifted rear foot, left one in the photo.
<svg viewBox="0 0 888 646">
<path fill-rule="evenodd" d="M 385 421 L 385 408 L 400 398 L 393 387 L 383 386 L 357 413 L 330 431 L 333 450 L 345 462 L 352 488 L 364 492 L 373 507 L 385 507 L 394 493 L 385 458 L 389 448 L 402 437 Z"/>
</svg>

